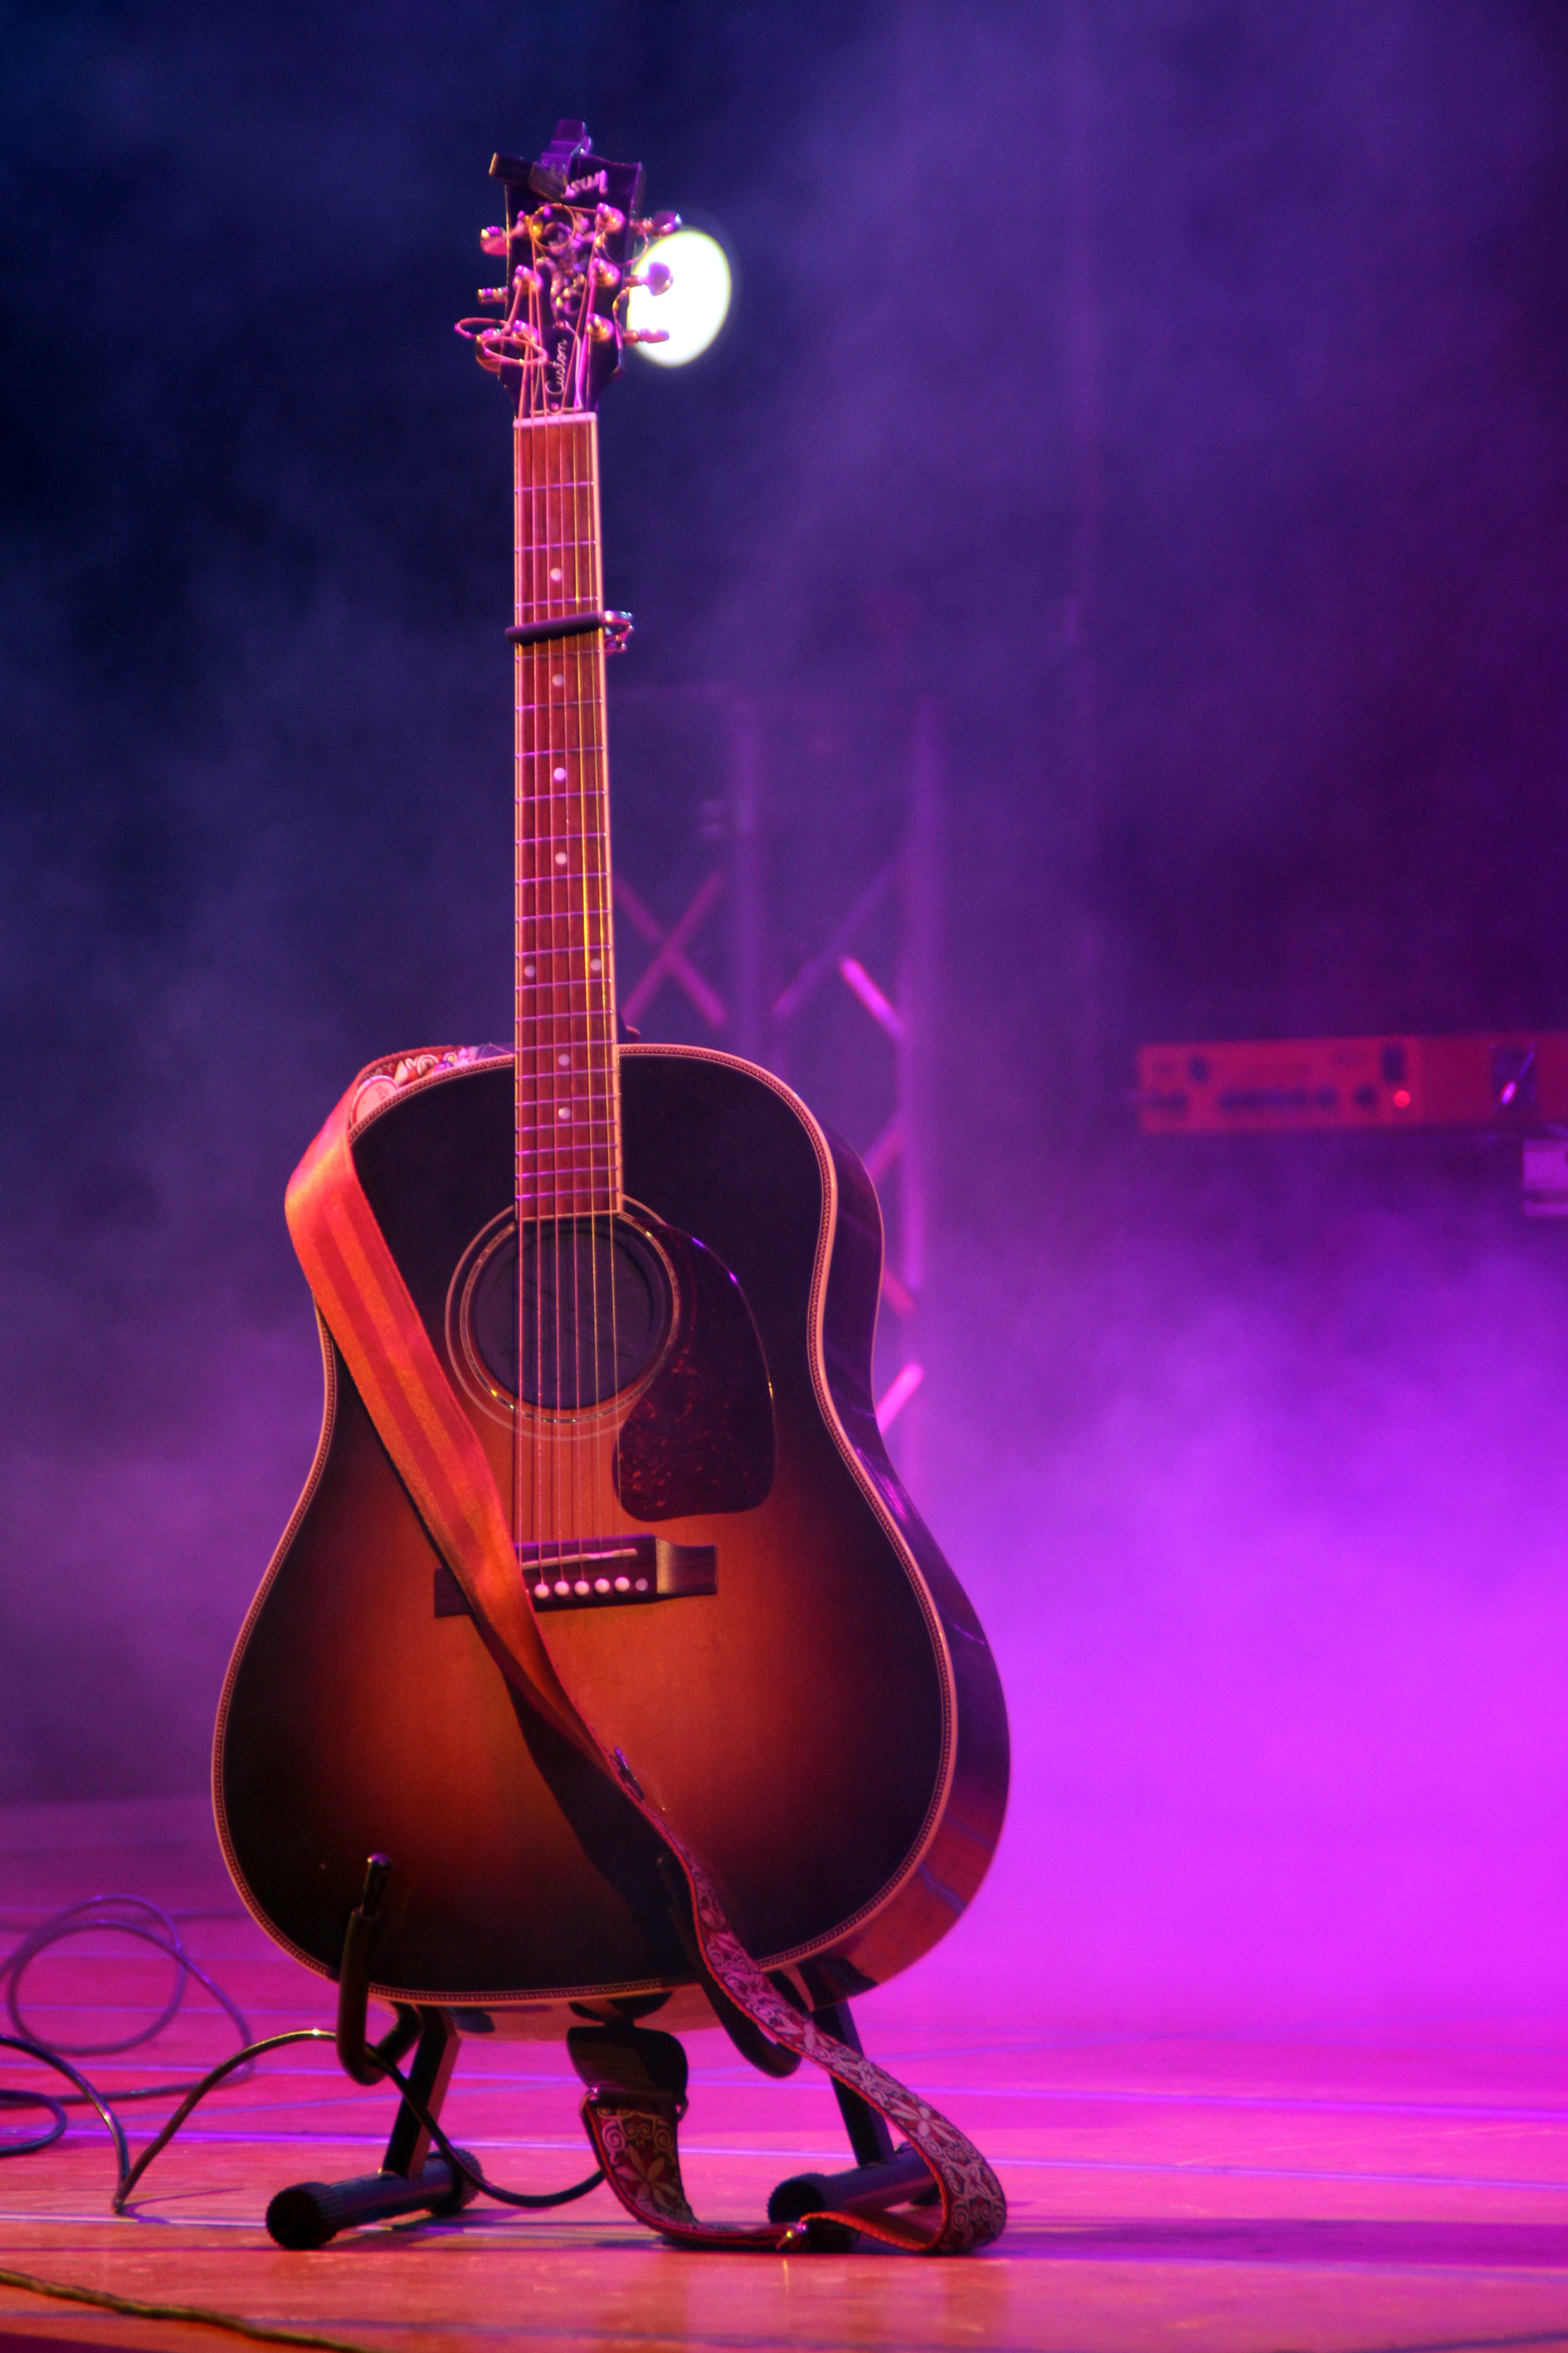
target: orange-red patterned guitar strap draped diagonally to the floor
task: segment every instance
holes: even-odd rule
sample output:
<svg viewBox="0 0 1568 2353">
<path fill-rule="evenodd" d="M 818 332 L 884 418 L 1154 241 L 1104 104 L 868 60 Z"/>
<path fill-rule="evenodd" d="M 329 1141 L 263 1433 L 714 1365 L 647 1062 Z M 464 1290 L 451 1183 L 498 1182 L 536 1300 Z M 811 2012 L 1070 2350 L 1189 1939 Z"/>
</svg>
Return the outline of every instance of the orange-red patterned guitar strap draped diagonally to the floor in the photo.
<svg viewBox="0 0 1568 2353">
<path fill-rule="evenodd" d="M 731 2002 L 773 2042 L 858 2092 L 922 2153 L 940 2193 L 940 2221 L 922 2228 L 893 2214 L 809 2214 L 795 2224 L 701 2224 L 679 2179 L 675 2104 L 614 2082 L 590 2087 L 583 2101 L 583 2125 L 604 2179 L 637 2221 L 691 2247 L 799 2247 L 809 2224 L 820 2219 L 849 2224 L 910 2254 L 961 2254 L 987 2245 L 1006 2221 L 1006 2200 L 980 2151 L 872 2059 L 783 2000 L 731 1929 L 703 1859 L 670 1821 L 658 1793 L 644 1788 L 632 1762 L 567 1692 L 517 1574 L 512 1529 L 484 1447 L 425 1334 L 353 1162 L 355 1096 L 367 1078 L 390 1071 L 393 1061 L 386 1061 L 360 1073 L 289 1181 L 289 1233 L 320 1315 L 501 1673 L 625 1793 L 677 1859 L 691 1889 L 703 1960 Z"/>
</svg>

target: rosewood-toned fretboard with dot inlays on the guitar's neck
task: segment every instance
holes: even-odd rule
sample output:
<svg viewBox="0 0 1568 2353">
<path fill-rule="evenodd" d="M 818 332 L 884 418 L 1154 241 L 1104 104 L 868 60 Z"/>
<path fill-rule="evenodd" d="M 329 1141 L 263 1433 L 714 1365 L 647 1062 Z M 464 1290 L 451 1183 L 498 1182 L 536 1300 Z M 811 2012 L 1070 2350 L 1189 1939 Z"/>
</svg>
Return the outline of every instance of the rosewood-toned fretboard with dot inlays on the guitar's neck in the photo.
<svg viewBox="0 0 1568 2353">
<path fill-rule="evenodd" d="M 520 419 L 517 624 L 604 607 L 592 412 Z M 621 1207 L 604 640 L 517 647 L 517 1217 Z"/>
</svg>

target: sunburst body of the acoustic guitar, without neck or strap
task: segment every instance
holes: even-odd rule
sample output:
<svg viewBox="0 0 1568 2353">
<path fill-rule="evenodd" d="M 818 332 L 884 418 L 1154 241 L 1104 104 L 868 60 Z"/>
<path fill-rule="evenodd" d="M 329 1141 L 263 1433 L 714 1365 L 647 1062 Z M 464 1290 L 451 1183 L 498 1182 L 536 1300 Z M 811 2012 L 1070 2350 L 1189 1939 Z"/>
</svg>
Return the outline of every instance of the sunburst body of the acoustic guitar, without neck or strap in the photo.
<svg viewBox="0 0 1568 2353">
<path fill-rule="evenodd" d="M 550 1652 L 748 1951 L 811 2005 L 839 2000 L 917 1960 L 980 1885 L 1006 1802 L 1001 1689 L 877 1431 L 882 1221 L 860 1162 L 750 1064 L 623 1047 L 618 1068 L 625 1214 L 668 1297 L 646 1365 L 578 1414 L 541 1407 L 538 1384 L 529 1402 L 527 1379 L 517 1405 L 475 1353 L 503 1247 L 515 1297 L 510 1054 L 393 1092 L 355 1167 L 520 1546 L 543 1558 L 567 1513 L 578 1546 L 646 1555 L 658 1537 L 710 1562 L 712 1591 L 552 1605 Z M 378 1993 L 465 2031 L 555 2035 L 609 2005 L 710 2024 L 658 1840 L 512 1694 L 322 1346 L 317 1459 L 219 1711 L 244 1901 L 334 1977 L 381 1852 Z M 548 1494 L 529 1468 L 545 1421 Z"/>
</svg>

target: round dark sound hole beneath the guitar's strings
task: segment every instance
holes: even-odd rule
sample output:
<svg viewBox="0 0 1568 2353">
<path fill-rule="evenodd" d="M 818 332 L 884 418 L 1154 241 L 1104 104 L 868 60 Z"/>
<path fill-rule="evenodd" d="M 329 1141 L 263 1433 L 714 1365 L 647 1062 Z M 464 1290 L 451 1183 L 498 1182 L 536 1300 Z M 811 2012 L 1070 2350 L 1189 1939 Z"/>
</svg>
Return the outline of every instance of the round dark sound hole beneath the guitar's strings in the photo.
<svg viewBox="0 0 1568 2353">
<path fill-rule="evenodd" d="M 541 1219 L 484 1261 L 470 1299 L 484 1369 L 527 1405 L 574 1412 L 637 1381 L 665 1344 L 672 1299 L 658 1252 L 616 1219 Z"/>
</svg>

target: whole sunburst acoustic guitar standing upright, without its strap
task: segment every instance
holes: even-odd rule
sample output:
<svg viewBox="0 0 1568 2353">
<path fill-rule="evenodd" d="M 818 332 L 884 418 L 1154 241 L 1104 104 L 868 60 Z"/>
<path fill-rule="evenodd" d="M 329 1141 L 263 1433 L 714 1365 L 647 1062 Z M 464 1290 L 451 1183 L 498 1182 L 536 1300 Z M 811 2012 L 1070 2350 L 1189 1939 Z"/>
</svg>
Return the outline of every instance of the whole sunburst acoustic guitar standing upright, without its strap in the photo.
<svg viewBox="0 0 1568 2353">
<path fill-rule="evenodd" d="M 877 1431 L 865 1169 L 769 1071 L 618 1038 L 595 405 L 665 221 L 581 125 L 491 172 L 505 273 L 461 332 L 515 409 L 515 1038 L 374 1064 L 353 1167 L 564 1682 L 820 2007 L 980 1885 L 1001 1687 Z M 658 1835 L 496 1671 L 324 1322 L 322 1353 L 315 1464 L 216 1727 L 244 1904 L 336 1977 L 378 1849 L 386 2000 L 463 2033 L 712 2024 Z"/>
</svg>

